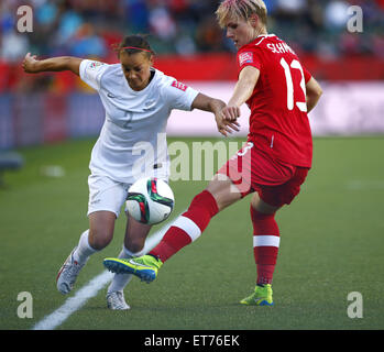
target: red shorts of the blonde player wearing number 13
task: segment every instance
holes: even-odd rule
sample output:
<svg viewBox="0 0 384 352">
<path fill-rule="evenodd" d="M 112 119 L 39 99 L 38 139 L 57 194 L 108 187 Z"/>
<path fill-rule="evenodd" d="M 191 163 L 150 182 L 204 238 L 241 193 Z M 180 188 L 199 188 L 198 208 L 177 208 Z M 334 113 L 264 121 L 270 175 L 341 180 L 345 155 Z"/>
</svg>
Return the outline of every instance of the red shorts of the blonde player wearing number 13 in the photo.
<svg viewBox="0 0 384 352">
<path fill-rule="evenodd" d="M 282 207 L 298 195 L 308 170 L 276 161 L 248 142 L 217 174 L 228 176 L 242 197 L 257 191 L 266 204 Z"/>
</svg>

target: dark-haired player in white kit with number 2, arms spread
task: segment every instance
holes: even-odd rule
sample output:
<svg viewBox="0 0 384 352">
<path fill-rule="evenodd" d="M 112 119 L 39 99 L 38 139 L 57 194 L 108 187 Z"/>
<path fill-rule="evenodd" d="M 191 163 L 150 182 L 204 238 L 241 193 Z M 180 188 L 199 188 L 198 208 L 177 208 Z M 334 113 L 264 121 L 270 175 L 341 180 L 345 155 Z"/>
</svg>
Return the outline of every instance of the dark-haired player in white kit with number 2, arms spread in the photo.
<svg viewBox="0 0 384 352">
<path fill-rule="evenodd" d="M 165 130 L 173 109 L 212 112 L 223 135 L 238 130 L 237 123 L 222 119 L 223 101 L 207 97 L 155 69 L 154 53 L 143 36 L 125 36 L 117 46 L 117 53 L 120 63 L 113 65 L 77 57 L 40 61 L 30 53 L 22 64 L 30 74 L 73 72 L 98 91 L 106 109 L 106 120 L 89 164 L 89 229 L 83 232 L 58 272 L 57 289 L 63 294 L 73 289 L 89 256 L 111 242 L 114 222 L 130 185 L 144 176 L 167 180 L 169 161 Z M 147 148 L 152 153 L 145 153 Z M 119 257 L 142 255 L 150 230 L 151 226 L 135 221 L 128 213 Z M 130 274 L 114 275 L 107 293 L 108 308 L 130 308 L 123 288 L 131 277 Z"/>
</svg>

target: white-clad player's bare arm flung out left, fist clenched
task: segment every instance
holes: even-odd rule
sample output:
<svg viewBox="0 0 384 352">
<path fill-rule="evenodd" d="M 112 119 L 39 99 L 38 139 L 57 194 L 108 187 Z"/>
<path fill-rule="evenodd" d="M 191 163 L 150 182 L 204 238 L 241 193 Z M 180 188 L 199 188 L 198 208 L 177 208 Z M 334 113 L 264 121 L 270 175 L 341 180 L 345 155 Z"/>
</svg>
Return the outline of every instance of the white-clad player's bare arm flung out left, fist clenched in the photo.
<svg viewBox="0 0 384 352">
<path fill-rule="evenodd" d="M 83 58 L 73 56 L 58 56 L 46 59 L 37 59 L 36 55 L 28 53 L 22 63 L 23 69 L 28 74 L 39 74 L 44 72 L 70 70 L 79 76 L 79 68 Z"/>
</svg>

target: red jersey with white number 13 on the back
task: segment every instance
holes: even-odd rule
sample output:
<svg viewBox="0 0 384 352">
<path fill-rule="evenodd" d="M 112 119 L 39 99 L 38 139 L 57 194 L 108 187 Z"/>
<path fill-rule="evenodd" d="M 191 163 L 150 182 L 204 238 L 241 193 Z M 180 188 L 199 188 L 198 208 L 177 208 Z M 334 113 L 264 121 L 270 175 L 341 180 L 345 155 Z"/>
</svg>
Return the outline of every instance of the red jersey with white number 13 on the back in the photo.
<svg viewBox="0 0 384 352">
<path fill-rule="evenodd" d="M 249 141 L 276 160 L 310 167 L 312 139 L 306 105 L 310 74 L 274 34 L 260 35 L 239 50 L 239 74 L 245 66 L 260 70 L 246 101 L 251 110 Z"/>
</svg>

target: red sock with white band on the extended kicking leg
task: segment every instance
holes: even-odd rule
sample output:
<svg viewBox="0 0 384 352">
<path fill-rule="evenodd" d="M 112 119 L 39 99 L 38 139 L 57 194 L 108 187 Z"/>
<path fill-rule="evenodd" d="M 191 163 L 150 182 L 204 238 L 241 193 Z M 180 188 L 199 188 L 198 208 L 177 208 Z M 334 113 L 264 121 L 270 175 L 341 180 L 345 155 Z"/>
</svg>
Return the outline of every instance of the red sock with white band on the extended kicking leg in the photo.
<svg viewBox="0 0 384 352">
<path fill-rule="evenodd" d="M 160 257 L 164 263 L 180 249 L 197 240 L 218 211 L 216 199 L 208 190 L 198 194 L 188 210 L 176 219 L 163 240 L 149 254 Z"/>
</svg>

